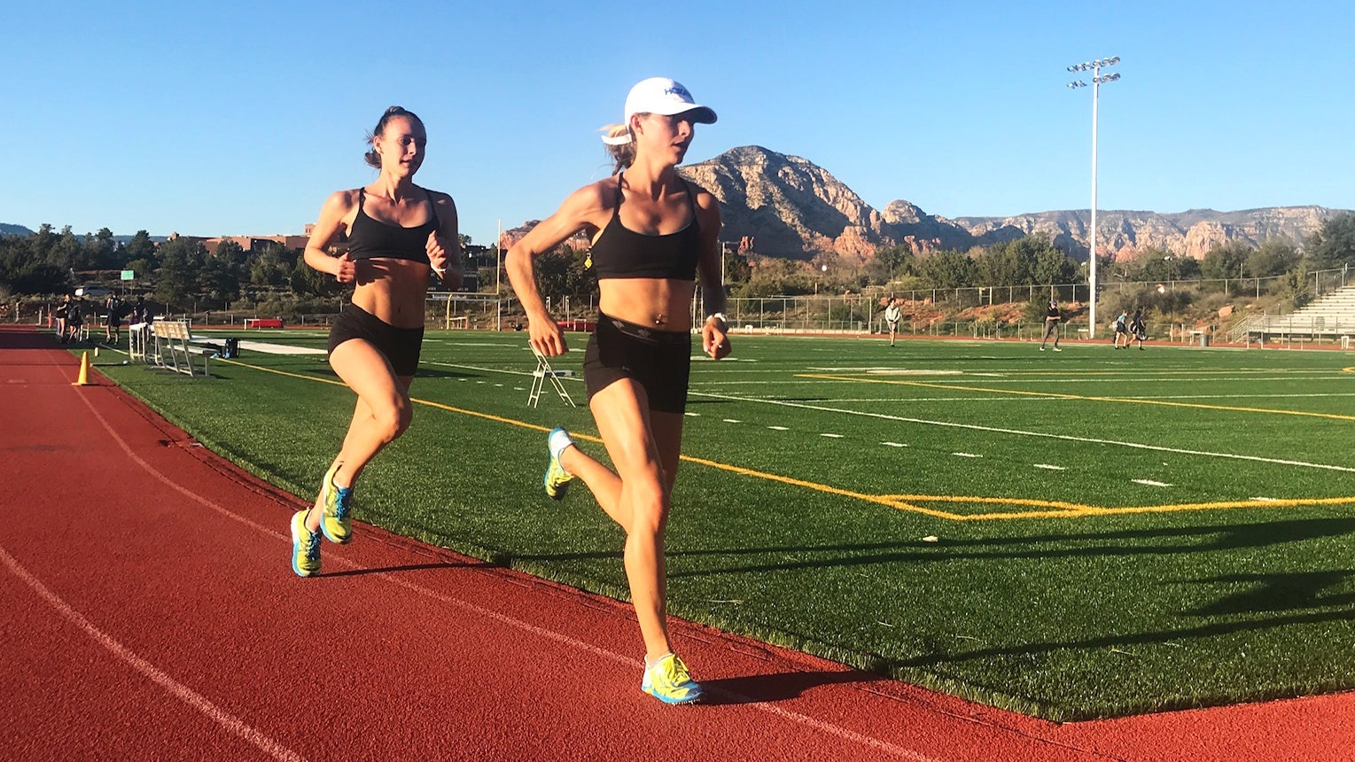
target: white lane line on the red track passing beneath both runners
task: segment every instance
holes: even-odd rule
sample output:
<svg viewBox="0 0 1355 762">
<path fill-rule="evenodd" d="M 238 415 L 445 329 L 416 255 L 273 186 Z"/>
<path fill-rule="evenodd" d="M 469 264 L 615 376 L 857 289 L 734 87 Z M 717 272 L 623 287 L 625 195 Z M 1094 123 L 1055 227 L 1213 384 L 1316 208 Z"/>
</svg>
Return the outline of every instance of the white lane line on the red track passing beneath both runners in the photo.
<svg viewBox="0 0 1355 762">
<path fill-rule="evenodd" d="M 76 386 L 76 389 L 80 389 L 80 386 Z M 201 503 L 202 506 L 206 506 L 207 508 L 211 508 L 213 511 L 215 511 L 215 513 L 218 513 L 218 514 L 221 514 L 221 515 L 224 515 L 226 518 L 230 518 L 233 521 L 237 521 L 237 522 L 240 522 L 240 523 L 243 523 L 243 525 L 245 525 L 245 526 L 248 526 L 251 529 L 262 532 L 263 534 L 267 534 L 267 536 L 278 540 L 279 542 L 290 542 L 291 541 L 290 533 L 282 533 L 282 532 L 278 532 L 275 529 L 270 529 L 270 527 L 266 527 L 266 526 L 263 526 L 260 523 L 249 521 L 248 518 L 245 518 L 245 517 L 243 517 L 240 514 L 236 514 L 236 513 L 230 511 L 229 508 L 225 508 L 225 507 L 222 507 L 222 506 L 220 506 L 220 504 L 217 504 L 217 503 L 214 503 L 214 502 L 211 502 L 211 500 L 209 500 L 209 499 L 206 499 L 206 498 L 203 498 L 201 495 L 196 495 L 196 494 L 188 491 L 184 487 L 180 487 L 179 484 L 175 484 L 168 476 L 165 476 L 165 475 L 160 473 L 159 470 L 156 470 L 154 466 L 152 466 L 149 462 L 146 462 L 145 460 L 142 460 L 141 456 L 138 456 L 137 453 L 134 453 L 131 450 L 131 447 L 127 445 L 127 442 L 123 441 L 123 438 L 118 435 L 118 433 L 112 428 L 112 426 L 108 424 L 108 422 L 102 415 L 99 415 L 99 411 L 95 409 L 93 403 L 91 403 L 85 397 L 85 395 L 80 395 L 80 400 L 85 404 L 85 407 L 89 408 L 89 412 L 93 414 L 93 418 L 103 426 L 104 431 L 107 431 L 108 435 L 112 438 L 112 441 L 117 442 L 118 447 L 122 449 L 122 452 L 129 458 L 131 458 L 131 461 L 134 461 L 137 465 L 140 465 L 146 473 L 149 473 L 150 476 L 153 476 L 156 480 L 159 480 L 163 484 L 165 484 L 167 487 L 178 491 L 179 494 L 182 494 L 182 495 L 192 499 L 194 502 Z M 3 553 L 3 552 L 4 552 L 3 548 L 0 548 L 0 553 Z M 4 556 L 8 559 L 8 553 L 4 553 Z M 340 557 L 335 557 L 331 563 L 337 563 L 337 564 L 346 565 L 346 567 L 351 568 L 351 569 L 360 569 L 360 568 L 363 568 L 359 564 L 355 564 L 355 563 L 350 561 L 348 559 L 344 559 L 341 556 Z M 7 564 L 8 564 L 8 561 L 7 561 Z M 509 617 L 507 614 L 501 614 L 499 611 L 493 611 L 493 610 L 485 609 L 482 606 L 477 606 L 476 603 L 472 603 L 469 601 L 462 601 L 459 598 L 453 598 L 450 595 L 444 595 L 444 594 L 436 593 L 436 591 L 430 590 L 427 587 L 421 587 L 421 586 L 415 584 L 412 582 L 400 579 L 400 578 L 397 578 L 397 576 L 394 576 L 394 575 L 392 575 L 389 572 L 381 572 L 381 574 L 378 574 L 378 576 L 381 579 L 386 580 L 386 582 L 390 582 L 392 584 L 398 584 L 398 586 L 405 587 L 405 588 L 408 588 L 408 590 L 411 590 L 413 593 L 417 593 L 420 595 L 425 595 L 425 597 L 430 597 L 430 598 L 434 598 L 434 599 L 438 599 L 438 601 L 443 601 L 443 602 L 446 602 L 449 605 L 457 606 L 459 609 L 465 609 L 466 611 L 470 611 L 473 614 L 482 616 L 482 617 L 486 617 L 486 618 L 492 618 L 492 620 L 495 620 L 497 622 L 501 622 L 501 624 L 505 624 L 508 626 L 523 629 L 523 630 L 531 632 L 534 635 L 538 635 L 541 637 L 545 637 L 545 639 L 549 639 L 549 640 L 554 640 L 557 643 L 562 643 L 562 644 L 570 645 L 573 648 L 579 648 L 581 651 L 587 651 L 589 654 L 596 654 L 596 655 L 603 656 L 606 659 L 610 659 L 612 662 L 618 662 L 621 664 L 627 664 L 627 666 L 631 666 L 631 667 L 642 667 L 644 666 L 644 663 L 640 659 L 635 659 L 634 656 L 625 656 L 625 655 L 617 654 L 615 651 L 608 651 L 606 648 L 593 645 L 591 643 L 585 643 L 583 640 L 577 640 L 575 637 L 569 637 L 568 635 L 562 635 L 562 633 L 558 633 L 558 632 L 554 632 L 554 630 L 550 630 L 550 629 L 546 629 L 546 628 L 541 628 L 541 626 L 537 626 L 537 625 L 534 625 L 531 622 L 526 622 L 526 621 Z M 148 666 L 150 666 L 150 664 L 148 663 Z M 150 666 L 150 667 L 154 668 L 153 666 Z M 744 696 L 744 694 L 729 691 L 729 690 L 721 690 L 721 689 L 715 689 L 715 690 L 713 690 L 713 693 L 715 693 L 718 696 L 724 696 L 724 697 L 726 697 L 729 700 L 737 701 L 738 704 L 743 704 L 743 705 L 747 705 L 747 706 L 752 706 L 753 709 L 759 709 L 759 710 L 767 712 L 770 715 L 776 715 L 778 717 L 783 717 L 783 719 L 790 720 L 793 723 L 798 723 L 801 725 L 805 725 L 805 727 L 813 728 L 816 731 L 825 732 L 828 735 L 833 735 L 833 736 L 837 736 L 837 738 L 841 738 L 841 739 L 846 739 L 846 740 L 860 743 L 863 746 L 869 746 L 871 748 L 877 748 L 879 751 L 883 751 L 886 754 L 892 754 L 892 755 L 902 758 L 902 759 L 911 759 L 912 762 L 942 762 L 940 759 L 936 759 L 934 757 L 927 757 L 927 755 L 920 754 L 917 751 L 913 751 L 911 748 L 904 748 L 901 746 L 896 746 L 893 743 L 881 740 L 881 739 L 874 738 L 874 736 L 863 735 L 863 734 L 859 734 L 856 731 L 851 731 L 851 729 L 843 728 L 840 725 L 835 725 L 832 723 L 827 723 L 824 720 L 818 720 L 818 719 L 810 717 L 808 715 L 801 715 L 799 712 L 791 712 L 789 709 L 782 709 L 780 706 L 775 706 L 775 705 L 767 704 L 764 701 L 757 701 L 757 700 L 755 700 L 755 698 L 752 698 L 749 696 Z M 206 701 L 206 700 L 203 700 L 203 701 Z M 210 705 L 210 702 L 209 702 L 209 705 Z M 262 736 L 262 738 L 267 739 L 267 736 Z M 304 759 L 302 757 L 298 757 L 298 755 L 290 753 L 290 750 L 283 748 L 283 751 L 286 751 L 287 754 L 291 754 L 291 755 L 290 757 L 279 757 L 279 759 Z"/>
</svg>

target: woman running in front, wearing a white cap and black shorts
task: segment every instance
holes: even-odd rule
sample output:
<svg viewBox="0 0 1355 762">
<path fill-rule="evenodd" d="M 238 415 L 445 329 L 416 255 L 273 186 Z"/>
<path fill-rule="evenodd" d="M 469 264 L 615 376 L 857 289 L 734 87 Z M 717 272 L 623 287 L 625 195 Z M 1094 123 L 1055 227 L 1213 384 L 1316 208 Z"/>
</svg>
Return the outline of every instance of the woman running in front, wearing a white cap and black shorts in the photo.
<svg viewBox="0 0 1355 762">
<path fill-rule="evenodd" d="M 690 704 L 702 691 L 668 637 L 664 532 L 682 450 L 698 271 L 709 313 L 702 348 L 720 359 L 730 347 L 720 207 L 676 167 L 694 125 L 714 123 L 715 113 L 679 83 L 652 77 L 630 89 L 625 115 L 603 137 L 617 163 L 612 176 L 570 194 L 508 251 L 504 264 L 527 312 L 533 347 L 556 357 L 566 351 L 565 338 L 546 312 L 533 262 L 579 230 L 592 236 L 599 316 L 584 350 L 584 382 L 615 470 L 556 428 L 547 438 L 546 494 L 562 498 L 577 476 L 626 532 L 626 579 L 645 641 L 640 687 L 665 704 Z"/>
</svg>

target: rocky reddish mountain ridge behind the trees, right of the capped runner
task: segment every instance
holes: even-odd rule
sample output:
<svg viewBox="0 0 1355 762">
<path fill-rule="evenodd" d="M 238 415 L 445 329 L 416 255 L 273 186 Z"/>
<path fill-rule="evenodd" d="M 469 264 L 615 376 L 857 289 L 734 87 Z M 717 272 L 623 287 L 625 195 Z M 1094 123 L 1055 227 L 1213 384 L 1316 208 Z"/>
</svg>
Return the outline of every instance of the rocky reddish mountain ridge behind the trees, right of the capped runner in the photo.
<svg viewBox="0 0 1355 762">
<path fill-rule="evenodd" d="M 756 145 L 733 148 L 679 172 L 720 199 L 722 239 L 751 236 L 755 251 L 771 256 L 810 259 L 832 251 L 864 260 L 877 245 L 905 244 L 919 254 L 965 251 L 1026 235 L 1045 235 L 1077 259 L 1087 259 L 1089 248 L 1091 212 L 1085 209 L 947 220 L 900 199 L 878 212 L 822 167 Z M 1324 206 L 1172 214 L 1098 210 L 1096 248 L 1126 258 L 1146 247 L 1202 258 L 1228 241 L 1260 245 L 1276 236 L 1302 241 L 1341 212 Z"/>
</svg>

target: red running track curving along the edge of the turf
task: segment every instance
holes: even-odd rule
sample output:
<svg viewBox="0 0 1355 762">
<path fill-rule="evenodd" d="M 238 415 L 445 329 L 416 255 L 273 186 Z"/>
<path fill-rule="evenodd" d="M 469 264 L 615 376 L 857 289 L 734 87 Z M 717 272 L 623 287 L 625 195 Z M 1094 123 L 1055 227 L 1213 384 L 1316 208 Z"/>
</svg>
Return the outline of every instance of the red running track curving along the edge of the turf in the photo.
<svg viewBox="0 0 1355 762">
<path fill-rule="evenodd" d="M 308 500 L 77 367 L 0 328 L 4 759 L 1355 758 L 1350 693 L 1054 724 L 676 621 L 664 706 L 626 605 L 366 525 L 297 578 Z"/>
</svg>

